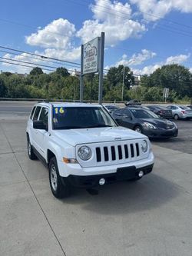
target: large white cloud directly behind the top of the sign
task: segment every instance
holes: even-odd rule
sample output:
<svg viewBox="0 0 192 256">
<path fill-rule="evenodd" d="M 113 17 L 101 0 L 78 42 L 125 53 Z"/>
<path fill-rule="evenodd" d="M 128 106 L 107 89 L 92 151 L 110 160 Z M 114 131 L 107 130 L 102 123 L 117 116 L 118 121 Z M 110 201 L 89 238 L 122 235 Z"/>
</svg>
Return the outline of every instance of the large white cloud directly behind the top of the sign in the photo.
<svg viewBox="0 0 192 256">
<path fill-rule="evenodd" d="M 116 45 L 127 38 L 137 38 L 146 30 L 144 25 L 131 19 L 131 7 L 127 3 L 95 0 L 91 11 L 94 19 L 84 21 L 77 32 L 83 43 L 105 32 L 105 45 Z"/>
</svg>

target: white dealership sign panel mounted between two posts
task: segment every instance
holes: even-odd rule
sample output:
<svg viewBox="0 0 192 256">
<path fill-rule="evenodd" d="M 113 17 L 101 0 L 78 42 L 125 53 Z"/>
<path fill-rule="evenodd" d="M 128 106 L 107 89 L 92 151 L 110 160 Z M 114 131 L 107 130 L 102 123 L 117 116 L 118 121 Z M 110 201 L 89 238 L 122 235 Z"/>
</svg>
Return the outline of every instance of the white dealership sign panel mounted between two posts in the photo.
<svg viewBox="0 0 192 256">
<path fill-rule="evenodd" d="M 83 45 L 83 74 L 98 72 L 99 39 L 100 38 L 94 38 Z"/>
</svg>

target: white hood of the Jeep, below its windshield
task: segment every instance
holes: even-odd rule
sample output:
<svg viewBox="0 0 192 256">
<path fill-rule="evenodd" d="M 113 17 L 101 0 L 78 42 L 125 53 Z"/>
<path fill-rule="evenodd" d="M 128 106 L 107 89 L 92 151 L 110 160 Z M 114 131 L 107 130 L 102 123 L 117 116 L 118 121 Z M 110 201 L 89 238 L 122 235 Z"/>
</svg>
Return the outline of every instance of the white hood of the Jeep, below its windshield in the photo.
<svg viewBox="0 0 192 256">
<path fill-rule="evenodd" d="M 80 144 L 123 141 L 137 138 L 147 138 L 137 131 L 132 131 L 121 126 L 108 128 L 83 128 L 70 130 L 55 130 L 55 137 L 69 145 L 76 146 Z"/>
</svg>

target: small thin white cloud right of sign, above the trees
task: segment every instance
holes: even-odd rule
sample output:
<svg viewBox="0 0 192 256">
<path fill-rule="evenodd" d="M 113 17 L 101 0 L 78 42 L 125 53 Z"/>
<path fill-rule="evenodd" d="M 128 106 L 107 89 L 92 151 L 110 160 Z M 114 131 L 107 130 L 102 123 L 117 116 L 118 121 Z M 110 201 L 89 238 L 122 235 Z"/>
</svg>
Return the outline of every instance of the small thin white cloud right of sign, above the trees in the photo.
<svg viewBox="0 0 192 256">
<path fill-rule="evenodd" d="M 117 62 L 115 66 L 118 65 L 141 65 L 148 59 L 154 58 L 156 56 L 155 52 L 151 52 L 149 50 L 143 49 L 141 53 L 137 53 L 128 58 L 127 55 L 123 55 L 121 61 Z"/>
</svg>

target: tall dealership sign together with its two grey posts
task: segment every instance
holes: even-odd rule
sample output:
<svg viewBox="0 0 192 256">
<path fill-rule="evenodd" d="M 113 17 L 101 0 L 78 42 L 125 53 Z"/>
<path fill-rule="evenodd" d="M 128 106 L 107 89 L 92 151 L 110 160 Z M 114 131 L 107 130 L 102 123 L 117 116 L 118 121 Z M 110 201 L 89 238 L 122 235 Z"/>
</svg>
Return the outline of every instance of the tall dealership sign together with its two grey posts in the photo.
<svg viewBox="0 0 192 256">
<path fill-rule="evenodd" d="M 101 32 L 101 37 L 81 45 L 80 102 L 83 101 L 83 76 L 97 72 L 99 74 L 98 102 L 101 104 L 104 73 L 104 32 Z"/>
</svg>

